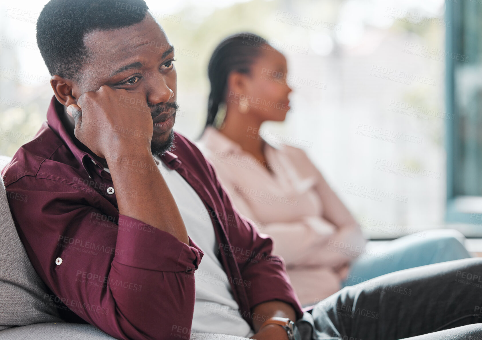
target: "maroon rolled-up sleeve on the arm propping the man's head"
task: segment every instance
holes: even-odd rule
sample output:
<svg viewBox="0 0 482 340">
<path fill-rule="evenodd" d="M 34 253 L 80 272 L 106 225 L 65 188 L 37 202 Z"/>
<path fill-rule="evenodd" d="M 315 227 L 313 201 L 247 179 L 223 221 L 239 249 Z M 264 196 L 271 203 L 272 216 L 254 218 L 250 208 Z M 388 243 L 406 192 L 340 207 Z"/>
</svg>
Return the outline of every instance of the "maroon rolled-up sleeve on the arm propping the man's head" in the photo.
<svg viewBox="0 0 482 340">
<path fill-rule="evenodd" d="M 89 192 L 60 181 L 22 177 L 7 192 L 28 197 L 9 204 L 50 300 L 117 339 L 172 339 L 191 328 L 203 256 L 191 239 L 187 245 L 113 206 L 100 211 Z"/>
</svg>

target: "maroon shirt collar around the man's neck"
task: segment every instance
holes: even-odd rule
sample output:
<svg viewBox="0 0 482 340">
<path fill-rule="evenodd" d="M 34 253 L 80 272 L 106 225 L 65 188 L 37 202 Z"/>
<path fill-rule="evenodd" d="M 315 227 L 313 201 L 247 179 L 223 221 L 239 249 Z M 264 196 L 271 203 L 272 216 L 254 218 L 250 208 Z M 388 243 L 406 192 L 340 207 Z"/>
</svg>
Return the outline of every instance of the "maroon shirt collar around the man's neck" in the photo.
<svg viewBox="0 0 482 340">
<path fill-rule="evenodd" d="M 100 164 L 97 160 L 95 160 L 92 154 L 80 150 L 79 147 L 75 145 L 74 141 L 67 133 L 67 129 L 60 120 L 59 114 L 61 114 L 63 109 L 63 105 L 57 100 L 57 98 L 55 98 L 55 96 L 53 96 L 52 100 L 50 101 L 49 108 L 47 109 L 47 123 L 49 124 L 50 128 L 64 141 L 64 143 L 67 145 L 67 148 L 72 152 L 72 154 L 79 161 L 79 163 L 82 164 L 89 177 L 91 177 L 90 170 L 85 165 L 86 163 L 84 161 L 94 163 L 95 166 L 100 170 L 103 170 L 104 166 Z M 175 135 L 176 134 L 174 133 L 174 141 Z M 90 158 L 90 161 L 86 160 L 86 157 Z M 173 170 L 181 165 L 181 161 L 178 159 L 177 155 L 170 151 L 166 151 L 164 155 L 161 156 L 161 159 L 164 161 L 164 163 L 167 164 L 169 168 Z"/>
</svg>

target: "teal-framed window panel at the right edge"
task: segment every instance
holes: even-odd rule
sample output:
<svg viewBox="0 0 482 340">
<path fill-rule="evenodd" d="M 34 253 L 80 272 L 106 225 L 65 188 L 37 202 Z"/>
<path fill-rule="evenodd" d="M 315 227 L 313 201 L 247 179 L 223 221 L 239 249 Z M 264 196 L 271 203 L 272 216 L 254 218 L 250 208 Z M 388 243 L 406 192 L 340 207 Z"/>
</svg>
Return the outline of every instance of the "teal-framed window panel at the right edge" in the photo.
<svg viewBox="0 0 482 340">
<path fill-rule="evenodd" d="M 475 2 L 477 1 L 477 2 Z M 482 3 L 447 1 L 447 222 L 482 225 Z"/>
</svg>

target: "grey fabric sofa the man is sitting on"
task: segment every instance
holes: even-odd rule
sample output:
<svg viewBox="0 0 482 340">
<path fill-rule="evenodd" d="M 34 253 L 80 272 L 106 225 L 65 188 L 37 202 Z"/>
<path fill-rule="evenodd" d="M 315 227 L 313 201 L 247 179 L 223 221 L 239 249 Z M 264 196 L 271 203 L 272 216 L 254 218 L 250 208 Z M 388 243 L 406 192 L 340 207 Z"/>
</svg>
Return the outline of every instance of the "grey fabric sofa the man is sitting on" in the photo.
<svg viewBox="0 0 482 340">
<path fill-rule="evenodd" d="M 0 156 L 0 170 L 10 161 Z M 8 207 L 3 180 L 0 185 L 0 340 L 115 340 L 86 324 L 59 318 L 44 298 L 46 286 L 30 263 Z M 177 339 L 177 338 L 176 338 Z M 191 334 L 193 340 L 244 340 L 222 334 Z"/>
</svg>

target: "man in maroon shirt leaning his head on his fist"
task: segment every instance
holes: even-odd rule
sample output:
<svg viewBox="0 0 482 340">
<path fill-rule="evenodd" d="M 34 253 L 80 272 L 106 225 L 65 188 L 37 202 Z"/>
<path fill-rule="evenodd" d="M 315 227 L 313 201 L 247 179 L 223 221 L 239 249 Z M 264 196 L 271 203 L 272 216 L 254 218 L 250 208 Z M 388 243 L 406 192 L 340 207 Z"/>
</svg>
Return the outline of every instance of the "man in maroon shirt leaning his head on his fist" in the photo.
<svg viewBox="0 0 482 340">
<path fill-rule="evenodd" d="M 303 314 L 271 240 L 173 132 L 174 47 L 143 0 L 51 0 L 37 40 L 55 96 L 41 143 L 20 148 L 2 176 L 66 320 L 136 340 L 294 339 L 290 320 L 298 339 L 387 340 L 480 320 L 474 259 L 346 288 Z"/>
</svg>

